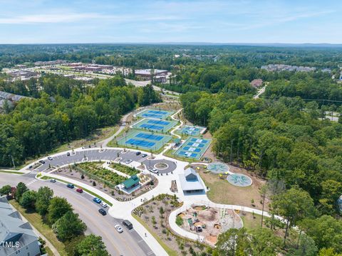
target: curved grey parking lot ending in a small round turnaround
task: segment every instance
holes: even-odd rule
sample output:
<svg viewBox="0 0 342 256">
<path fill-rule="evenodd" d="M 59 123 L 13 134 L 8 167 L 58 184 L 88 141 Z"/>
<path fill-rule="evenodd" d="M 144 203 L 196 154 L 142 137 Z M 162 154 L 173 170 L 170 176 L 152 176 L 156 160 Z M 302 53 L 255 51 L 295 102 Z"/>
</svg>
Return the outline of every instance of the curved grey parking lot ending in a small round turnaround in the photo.
<svg viewBox="0 0 342 256">
<path fill-rule="evenodd" d="M 103 161 L 114 161 L 118 157 L 121 157 L 121 161 L 125 162 L 127 160 L 133 160 L 133 161 L 138 161 L 141 162 L 142 164 L 145 164 L 147 167 L 149 166 L 155 166 L 157 163 L 165 163 L 167 164 L 167 168 L 165 169 L 158 169 L 160 174 L 166 174 L 170 173 L 171 171 L 174 171 L 176 169 L 176 164 L 173 161 L 169 161 L 166 159 L 161 159 L 161 160 L 148 160 L 147 156 L 142 157 L 142 154 L 136 155 L 135 151 L 126 151 L 124 154 L 121 153 L 122 150 L 118 149 L 103 149 L 101 151 L 100 149 L 86 149 L 83 151 L 75 151 L 74 154 L 72 154 L 71 151 L 71 156 L 67 156 L 65 154 L 61 154 L 59 156 L 54 156 L 53 160 L 48 160 L 47 158 L 44 159 L 45 164 L 42 164 L 38 168 L 36 168 L 33 171 L 33 174 L 38 173 L 38 171 L 45 171 L 48 169 L 49 165 L 50 166 L 63 166 L 66 164 L 73 164 L 73 163 L 79 163 L 82 161 L 96 161 L 96 160 L 103 160 Z M 157 168 L 156 168 L 157 169 Z"/>
</svg>

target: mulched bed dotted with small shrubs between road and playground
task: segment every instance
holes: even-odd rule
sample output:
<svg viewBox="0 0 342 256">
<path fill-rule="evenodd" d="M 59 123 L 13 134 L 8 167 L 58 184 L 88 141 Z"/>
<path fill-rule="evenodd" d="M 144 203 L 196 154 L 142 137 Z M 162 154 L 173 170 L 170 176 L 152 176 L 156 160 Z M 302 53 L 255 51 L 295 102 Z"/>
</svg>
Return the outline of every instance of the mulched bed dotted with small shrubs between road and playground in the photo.
<svg viewBox="0 0 342 256">
<path fill-rule="evenodd" d="M 169 226 L 169 215 L 182 206 L 177 197 L 161 194 L 133 210 L 133 215 L 150 230 L 169 255 L 211 255 L 212 247 L 176 235 Z"/>
</svg>

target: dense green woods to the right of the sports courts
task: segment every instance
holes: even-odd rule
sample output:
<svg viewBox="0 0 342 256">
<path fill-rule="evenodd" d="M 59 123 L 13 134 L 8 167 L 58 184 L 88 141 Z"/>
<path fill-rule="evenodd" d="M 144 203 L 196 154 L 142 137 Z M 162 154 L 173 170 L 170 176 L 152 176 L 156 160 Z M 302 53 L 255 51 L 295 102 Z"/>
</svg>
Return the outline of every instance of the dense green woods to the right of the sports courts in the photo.
<svg viewBox="0 0 342 256">
<path fill-rule="evenodd" d="M 305 201 L 312 201 L 314 206 L 310 215 L 306 215 L 299 208 L 305 206 L 305 202 L 291 206 L 290 197 L 278 206 L 272 203 L 274 213 L 289 218 L 291 225 L 296 224 L 296 218 L 310 217 L 316 230 L 306 225 L 306 232 L 315 232 L 312 238 L 316 239 L 317 245 L 320 235 L 325 232 L 321 225 L 333 223 L 336 228 L 329 238 L 337 239 L 341 220 L 331 216 L 341 214 L 337 204 L 342 194 L 341 123 L 320 120 L 318 103 L 305 102 L 300 97 L 253 100 L 248 95 L 188 92 L 180 100 L 185 117 L 195 124 L 208 125 L 217 157 L 269 181 L 283 183 L 284 188 L 296 188 L 296 191 L 302 191 L 300 195 L 307 193 Z M 286 198 L 284 193 L 288 192 L 282 191 L 279 201 Z M 287 215 L 285 206 L 296 207 L 295 212 L 303 216 Z M 326 223 L 323 224 L 323 220 Z M 321 228 L 318 230 L 318 227 Z M 319 248 L 332 246 L 342 252 L 341 243 L 319 243 Z"/>
</svg>

